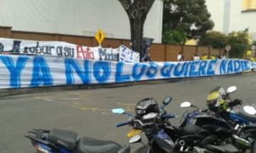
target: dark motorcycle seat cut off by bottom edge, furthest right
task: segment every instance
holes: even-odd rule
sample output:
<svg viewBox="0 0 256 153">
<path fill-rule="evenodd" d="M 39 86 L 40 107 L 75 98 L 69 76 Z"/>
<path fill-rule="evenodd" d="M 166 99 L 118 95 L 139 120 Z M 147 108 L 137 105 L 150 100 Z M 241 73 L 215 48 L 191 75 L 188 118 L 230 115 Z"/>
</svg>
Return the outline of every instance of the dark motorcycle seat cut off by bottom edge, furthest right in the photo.
<svg viewBox="0 0 256 153">
<path fill-rule="evenodd" d="M 206 149 L 210 149 L 213 152 L 239 153 L 239 150 L 231 144 L 206 145 Z"/>
</svg>

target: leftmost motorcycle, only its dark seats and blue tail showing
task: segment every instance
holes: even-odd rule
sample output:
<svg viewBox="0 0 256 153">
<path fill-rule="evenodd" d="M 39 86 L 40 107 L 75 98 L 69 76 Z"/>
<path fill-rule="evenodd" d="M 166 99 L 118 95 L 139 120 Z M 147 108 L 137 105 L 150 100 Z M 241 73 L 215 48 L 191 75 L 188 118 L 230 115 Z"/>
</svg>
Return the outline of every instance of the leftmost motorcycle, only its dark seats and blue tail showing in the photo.
<svg viewBox="0 0 256 153">
<path fill-rule="evenodd" d="M 122 146 L 117 142 L 97 140 L 91 137 L 78 138 L 78 134 L 69 130 L 28 131 L 28 139 L 38 153 L 129 153 L 130 146 Z M 136 141 L 136 140 L 131 140 Z"/>
</svg>

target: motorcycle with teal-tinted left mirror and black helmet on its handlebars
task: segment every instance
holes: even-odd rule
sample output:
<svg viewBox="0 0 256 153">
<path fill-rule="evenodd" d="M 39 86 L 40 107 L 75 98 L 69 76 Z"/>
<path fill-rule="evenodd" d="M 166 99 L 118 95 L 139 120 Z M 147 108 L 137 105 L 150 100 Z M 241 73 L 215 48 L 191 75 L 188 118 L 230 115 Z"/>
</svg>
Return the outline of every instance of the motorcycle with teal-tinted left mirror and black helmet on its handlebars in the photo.
<svg viewBox="0 0 256 153">
<path fill-rule="evenodd" d="M 165 98 L 166 103 L 171 101 L 171 97 Z M 127 113 L 123 108 L 114 108 L 112 109 L 112 113 L 124 114 L 127 115 L 128 120 L 123 123 L 117 123 L 117 127 L 121 127 L 123 125 L 132 126 L 132 130 L 127 133 L 127 137 L 138 137 L 141 142 L 142 147 L 137 149 L 137 152 L 162 152 L 162 153 L 174 153 L 174 149 L 172 147 L 171 138 L 164 133 L 164 130 L 160 130 L 158 128 L 159 120 L 165 120 L 166 118 L 174 118 L 173 114 L 165 114 L 159 118 L 158 113 L 147 113 L 143 115 L 142 118 L 136 118 L 131 113 Z M 147 144 L 144 144 L 141 140 L 140 134 L 145 132 L 146 138 L 148 140 Z M 129 142 L 130 143 L 130 142 Z"/>
</svg>

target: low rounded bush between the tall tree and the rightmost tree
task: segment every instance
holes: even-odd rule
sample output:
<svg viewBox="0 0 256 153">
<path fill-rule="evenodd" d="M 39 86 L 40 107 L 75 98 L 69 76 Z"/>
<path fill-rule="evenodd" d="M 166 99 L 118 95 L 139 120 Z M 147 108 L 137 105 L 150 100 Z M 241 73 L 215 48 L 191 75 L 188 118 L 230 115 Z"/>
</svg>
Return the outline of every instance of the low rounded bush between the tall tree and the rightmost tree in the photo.
<svg viewBox="0 0 256 153">
<path fill-rule="evenodd" d="M 211 45 L 214 48 L 225 48 L 227 41 L 227 35 L 224 33 L 219 31 L 210 31 L 201 37 L 198 45 Z"/>
</svg>

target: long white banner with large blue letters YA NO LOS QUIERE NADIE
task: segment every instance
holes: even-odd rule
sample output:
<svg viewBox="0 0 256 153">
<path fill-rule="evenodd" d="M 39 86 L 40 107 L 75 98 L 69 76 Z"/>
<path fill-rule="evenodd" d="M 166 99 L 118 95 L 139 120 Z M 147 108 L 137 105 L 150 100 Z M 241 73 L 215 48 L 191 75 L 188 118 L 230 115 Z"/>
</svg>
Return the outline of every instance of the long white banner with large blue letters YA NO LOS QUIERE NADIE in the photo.
<svg viewBox="0 0 256 153">
<path fill-rule="evenodd" d="M 0 55 L 0 89 L 204 77 L 235 74 L 252 68 L 256 68 L 255 62 L 230 59 L 124 63 Z"/>
</svg>

